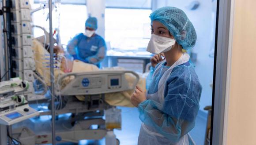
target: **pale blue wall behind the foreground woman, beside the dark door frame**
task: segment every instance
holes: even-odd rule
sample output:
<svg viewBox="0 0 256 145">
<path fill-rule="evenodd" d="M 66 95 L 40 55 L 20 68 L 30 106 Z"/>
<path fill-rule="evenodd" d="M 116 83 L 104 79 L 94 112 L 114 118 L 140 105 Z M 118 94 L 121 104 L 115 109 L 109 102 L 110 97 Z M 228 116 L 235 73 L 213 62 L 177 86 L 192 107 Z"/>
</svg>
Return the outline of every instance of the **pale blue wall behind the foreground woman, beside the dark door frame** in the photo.
<svg viewBox="0 0 256 145">
<path fill-rule="evenodd" d="M 184 3 L 186 1 L 186 3 Z M 200 6 L 196 10 L 189 10 L 189 4 L 194 0 L 155 0 L 153 4 L 155 8 L 171 6 L 182 9 L 190 21 L 193 23 L 197 41 L 196 46 L 192 49 L 193 53 L 197 54 L 195 64 L 196 73 L 203 86 L 203 91 L 200 99 L 200 110 L 207 105 L 211 105 L 212 101 L 212 88 L 210 84 L 213 80 L 213 65 L 214 58 L 209 57 L 211 47 L 214 47 L 215 39 L 215 19 L 212 17 L 213 10 L 216 8 L 216 0 L 198 0 Z"/>
</svg>

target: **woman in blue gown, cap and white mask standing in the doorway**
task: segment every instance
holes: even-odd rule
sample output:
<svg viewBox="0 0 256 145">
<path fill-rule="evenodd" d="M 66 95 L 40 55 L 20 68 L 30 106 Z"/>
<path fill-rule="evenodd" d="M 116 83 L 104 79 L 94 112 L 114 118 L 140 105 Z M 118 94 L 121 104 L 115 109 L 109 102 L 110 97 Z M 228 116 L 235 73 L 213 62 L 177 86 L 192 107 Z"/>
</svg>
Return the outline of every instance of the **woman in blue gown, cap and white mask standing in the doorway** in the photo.
<svg viewBox="0 0 256 145">
<path fill-rule="evenodd" d="M 136 87 L 131 102 L 142 121 L 138 145 L 192 145 L 202 86 L 186 50 L 196 43 L 196 31 L 186 14 L 162 7 L 151 15 L 147 51 L 151 72 L 147 92 Z"/>
</svg>

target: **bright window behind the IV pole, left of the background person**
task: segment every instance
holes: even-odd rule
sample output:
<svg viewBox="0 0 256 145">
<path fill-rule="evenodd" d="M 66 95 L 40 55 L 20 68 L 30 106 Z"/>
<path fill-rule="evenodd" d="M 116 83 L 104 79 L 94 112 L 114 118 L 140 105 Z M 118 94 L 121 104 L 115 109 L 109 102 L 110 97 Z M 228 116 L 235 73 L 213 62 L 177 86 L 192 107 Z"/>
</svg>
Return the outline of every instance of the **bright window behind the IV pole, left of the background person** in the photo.
<svg viewBox="0 0 256 145">
<path fill-rule="evenodd" d="M 40 7 L 40 4 L 32 5 L 32 9 L 37 7 Z M 48 13 L 49 9 L 44 9 L 32 15 L 34 25 L 44 27 L 47 32 L 49 32 Z M 83 33 L 86 19 L 86 5 L 61 4 L 59 8 L 53 9 L 53 29 L 60 29 L 61 43 L 67 44 L 77 33 Z M 34 29 L 34 37 L 42 35 L 44 33 L 41 29 Z"/>
</svg>

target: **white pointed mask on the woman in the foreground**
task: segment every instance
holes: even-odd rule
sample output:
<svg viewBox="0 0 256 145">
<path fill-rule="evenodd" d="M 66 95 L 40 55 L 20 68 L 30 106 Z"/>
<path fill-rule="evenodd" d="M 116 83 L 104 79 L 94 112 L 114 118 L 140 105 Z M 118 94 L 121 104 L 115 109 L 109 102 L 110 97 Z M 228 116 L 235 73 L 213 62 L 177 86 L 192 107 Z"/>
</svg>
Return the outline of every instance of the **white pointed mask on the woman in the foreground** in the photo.
<svg viewBox="0 0 256 145">
<path fill-rule="evenodd" d="M 163 53 L 171 50 L 175 42 L 175 39 L 152 34 L 147 45 L 147 51 L 153 54 Z"/>
</svg>

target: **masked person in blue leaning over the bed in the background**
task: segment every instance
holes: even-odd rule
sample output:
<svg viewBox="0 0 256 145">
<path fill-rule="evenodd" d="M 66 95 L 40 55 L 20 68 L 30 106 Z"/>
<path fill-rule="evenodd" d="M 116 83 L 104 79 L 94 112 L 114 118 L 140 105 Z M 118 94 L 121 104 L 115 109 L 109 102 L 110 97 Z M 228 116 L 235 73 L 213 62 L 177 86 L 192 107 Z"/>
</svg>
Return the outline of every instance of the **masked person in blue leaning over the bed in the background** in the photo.
<svg viewBox="0 0 256 145">
<path fill-rule="evenodd" d="M 85 32 L 70 40 L 67 50 L 74 59 L 100 67 L 100 62 L 106 55 L 106 44 L 105 40 L 95 33 L 97 28 L 97 18 L 88 18 L 85 22 Z"/>
</svg>

